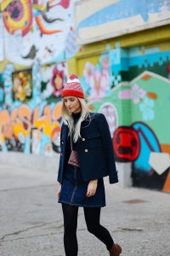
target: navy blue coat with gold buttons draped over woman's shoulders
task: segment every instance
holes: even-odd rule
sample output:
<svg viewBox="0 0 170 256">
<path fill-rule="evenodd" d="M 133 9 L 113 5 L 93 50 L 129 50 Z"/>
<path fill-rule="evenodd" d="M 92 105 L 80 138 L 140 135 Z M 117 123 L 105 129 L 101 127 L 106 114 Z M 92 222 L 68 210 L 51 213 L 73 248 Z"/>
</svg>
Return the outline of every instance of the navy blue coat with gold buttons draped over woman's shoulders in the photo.
<svg viewBox="0 0 170 256">
<path fill-rule="evenodd" d="M 81 125 L 81 138 L 77 147 L 78 159 L 84 181 L 109 176 L 110 183 L 117 183 L 111 132 L 103 113 L 90 113 L 91 121 Z M 65 172 L 65 146 L 68 126 L 63 123 L 60 135 L 60 159 L 58 182 L 62 183 Z"/>
</svg>

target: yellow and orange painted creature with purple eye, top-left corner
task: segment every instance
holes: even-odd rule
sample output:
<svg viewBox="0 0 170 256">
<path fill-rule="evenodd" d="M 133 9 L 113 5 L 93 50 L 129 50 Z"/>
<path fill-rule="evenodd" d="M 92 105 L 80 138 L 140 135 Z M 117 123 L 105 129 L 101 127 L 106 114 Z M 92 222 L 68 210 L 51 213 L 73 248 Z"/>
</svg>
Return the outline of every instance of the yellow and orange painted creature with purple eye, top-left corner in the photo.
<svg viewBox="0 0 170 256">
<path fill-rule="evenodd" d="M 59 5 L 62 8 L 67 9 L 69 8 L 71 0 L 63 0 L 56 4 L 49 3 L 53 3 L 54 0 L 47 3 L 43 2 L 44 1 L 40 0 L 2 0 L 1 12 L 3 16 L 3 23 L 8 33 L 14 34 L 14 32 L 20 30 L 22 32 L 22 36 L 24 37 L 28 32 L 32 31 L 31 26 L 33 26 L 33 10 L 36 12 L 36 15 L 34 14 L 34 16 L 37 26 L 41 32 L 41 36 L 43 34 L 50 35 L 62 32 L 60 29 L 55 29 L 53 23 L 55 21 L 62 22 L 63 19 L 52 18 L 50 15 L 48 15 L 48 11 Z M 47 25 L 49 26 L 50 24 L 52 24 L 52 29 L 48 29 L 47 27 Z"/>
</svg>

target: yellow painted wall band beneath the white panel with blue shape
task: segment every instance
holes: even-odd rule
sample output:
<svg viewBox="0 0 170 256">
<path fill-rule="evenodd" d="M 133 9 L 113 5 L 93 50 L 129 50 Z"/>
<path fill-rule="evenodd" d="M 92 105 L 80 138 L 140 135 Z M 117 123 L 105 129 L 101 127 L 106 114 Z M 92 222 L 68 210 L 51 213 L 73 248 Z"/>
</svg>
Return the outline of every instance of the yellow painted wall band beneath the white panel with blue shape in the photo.
<svg viewBox="0 0 170 256">
<path fill-rule="evenodd" d="M 83 70 L 87 61 L 96 65 L 99 56 L 109 49 L 115 49 L 119 43 L 121 48 L 139 47 L 140 50 L 159 48 L 161 51 L 170 49 L 170 26 L 156 27 L 143 32 L 135 32 L 122 37 L 110 38 L 94 44 L 82 45 L 77 55 L 68 62 L 69 73 L 77 73 L 83 76 Z"/>
</svg>

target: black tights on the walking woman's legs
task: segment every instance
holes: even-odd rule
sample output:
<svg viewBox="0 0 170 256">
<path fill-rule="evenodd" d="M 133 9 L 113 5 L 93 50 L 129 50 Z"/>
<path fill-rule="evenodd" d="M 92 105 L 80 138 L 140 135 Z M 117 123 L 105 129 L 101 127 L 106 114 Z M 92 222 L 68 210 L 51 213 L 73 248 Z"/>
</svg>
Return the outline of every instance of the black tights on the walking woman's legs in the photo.
<svg viewBox="0 0 170 256">
<path fill-rule="evenodd" d="M 63 216 L 64 216 L 64 245 L 66 256 L 77 256 L 78 245 L 77 245 L 77 215 L 78 207 L 72 207 L 69 205 L 62 204 Z M 88 227 L 88 231 L 100 241 L 105 243 L 108 250 L 113 245 L 113 240 L 108 230 L 99 224 L 100 210 L 101 208 L 89 208 L 84 207 L 84 217 Z"/>
</svg>

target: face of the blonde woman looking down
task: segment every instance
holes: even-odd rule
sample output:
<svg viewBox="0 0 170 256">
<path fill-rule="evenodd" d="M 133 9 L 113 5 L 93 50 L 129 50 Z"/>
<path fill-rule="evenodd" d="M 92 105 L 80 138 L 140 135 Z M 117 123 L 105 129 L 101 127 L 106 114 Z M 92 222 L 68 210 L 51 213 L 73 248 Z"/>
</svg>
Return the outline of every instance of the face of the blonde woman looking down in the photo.
<svg viewBox="0 0 170 256">
<path fill-rule="evenodd" d="M 65 96 L 64 97 L 65 107 L 70 113 L 81 112 L 81 104 L 77 97 L 74 96 Z"/>
</svg>

